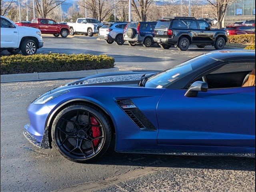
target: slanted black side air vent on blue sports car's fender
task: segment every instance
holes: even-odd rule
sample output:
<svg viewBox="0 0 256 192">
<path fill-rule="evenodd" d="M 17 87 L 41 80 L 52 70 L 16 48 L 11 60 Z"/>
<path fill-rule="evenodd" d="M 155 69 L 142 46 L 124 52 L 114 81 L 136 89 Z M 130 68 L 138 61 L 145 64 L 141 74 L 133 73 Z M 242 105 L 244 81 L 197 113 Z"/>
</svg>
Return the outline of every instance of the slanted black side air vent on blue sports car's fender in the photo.
<svg viewBox="0 0 256 192">
<path fill-rule="evenodd" d="M 146 116 L 137 108 L 130 99 L 116 100 L 120 108 L 130 117 L 130 119 L 143 131 L 155 131 L 154 125 L 146 118 Z"/>
</svg>

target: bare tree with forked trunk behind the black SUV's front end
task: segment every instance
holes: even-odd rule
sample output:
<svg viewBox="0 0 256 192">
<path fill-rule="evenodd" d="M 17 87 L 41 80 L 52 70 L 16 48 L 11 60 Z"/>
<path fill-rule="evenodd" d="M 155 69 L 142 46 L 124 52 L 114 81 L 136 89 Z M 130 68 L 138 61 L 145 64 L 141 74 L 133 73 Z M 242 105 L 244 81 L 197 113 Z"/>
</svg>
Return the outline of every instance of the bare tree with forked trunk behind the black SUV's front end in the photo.
<svg viewBox="0 0 256 192">
<path fill-rule="evenodd" d="M 218 28 L 222 28 L 222 20 L 224 18 L 227 6 L 236 2 L 236 0 L 206 0 L 208 4 L 217 9 Z"/>
</svg>

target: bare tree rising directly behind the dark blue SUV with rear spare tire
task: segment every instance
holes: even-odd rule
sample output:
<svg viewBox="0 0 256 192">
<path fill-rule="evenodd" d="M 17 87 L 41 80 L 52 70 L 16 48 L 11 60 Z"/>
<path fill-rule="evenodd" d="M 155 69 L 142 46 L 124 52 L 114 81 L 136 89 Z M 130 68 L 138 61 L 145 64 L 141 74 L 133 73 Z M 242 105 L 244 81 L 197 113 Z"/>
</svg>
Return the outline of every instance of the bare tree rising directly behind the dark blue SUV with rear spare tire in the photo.
<svg viewBox="0 0 256 192">
<path fill-rule="evenodd" d="M 146 21 L 148 15 L 148 9 L 153 0 L 132 0 L 132 6 L 135 9 L 138 20 Z"/>
</svg>

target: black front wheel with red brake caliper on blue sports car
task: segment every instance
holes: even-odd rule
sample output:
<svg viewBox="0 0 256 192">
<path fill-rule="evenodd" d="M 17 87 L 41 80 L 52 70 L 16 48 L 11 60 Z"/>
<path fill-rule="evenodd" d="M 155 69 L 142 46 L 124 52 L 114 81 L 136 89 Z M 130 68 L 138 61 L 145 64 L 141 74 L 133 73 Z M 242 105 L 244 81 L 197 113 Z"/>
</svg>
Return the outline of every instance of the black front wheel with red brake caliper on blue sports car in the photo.
<svg viewBox="0 0 256 192">
<path fill-rule="evenodd" d="M 112 130 L 108 116 L 93 106 L 71 104 L 54 118 L 52 143 L 65 158 L 85 163 L 108 149 Z"/>
</svg>

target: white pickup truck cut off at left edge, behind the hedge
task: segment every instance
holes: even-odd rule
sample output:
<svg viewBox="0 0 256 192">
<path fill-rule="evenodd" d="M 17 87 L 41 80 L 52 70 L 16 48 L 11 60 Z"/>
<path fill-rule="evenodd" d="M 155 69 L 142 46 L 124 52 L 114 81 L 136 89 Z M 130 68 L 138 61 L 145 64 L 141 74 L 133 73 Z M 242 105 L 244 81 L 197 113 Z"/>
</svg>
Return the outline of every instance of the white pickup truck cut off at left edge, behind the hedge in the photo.
<svg viewBox="0 0 256 192">
<path fill-rule="evenodd" d="M 8 18 L 1 16 L 1 51 L 22 52 L 23 55 L 35 54 L 44 44 L 39 29 L 20 27 Z"/>
</svg>

